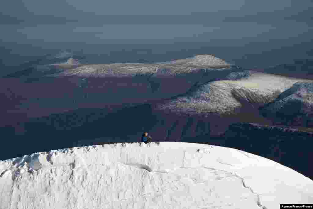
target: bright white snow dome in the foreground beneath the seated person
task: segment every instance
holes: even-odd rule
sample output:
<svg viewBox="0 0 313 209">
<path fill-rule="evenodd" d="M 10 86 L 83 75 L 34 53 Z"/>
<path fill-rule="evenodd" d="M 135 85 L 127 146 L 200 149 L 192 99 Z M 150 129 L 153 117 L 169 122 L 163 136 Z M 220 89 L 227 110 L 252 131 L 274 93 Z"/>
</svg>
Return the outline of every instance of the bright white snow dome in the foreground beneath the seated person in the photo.
<svg viewBox="0 0 313 209">
<path fill-rule="evenodd" d="M 107 144 L 0 161 L 0 208 L 276 209 L 313 202 L 313 181 L 237 149 Z"/>
</svg>

